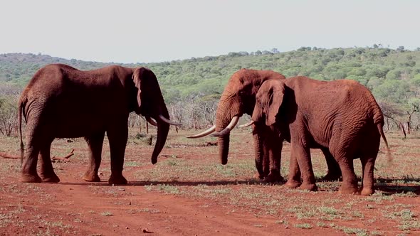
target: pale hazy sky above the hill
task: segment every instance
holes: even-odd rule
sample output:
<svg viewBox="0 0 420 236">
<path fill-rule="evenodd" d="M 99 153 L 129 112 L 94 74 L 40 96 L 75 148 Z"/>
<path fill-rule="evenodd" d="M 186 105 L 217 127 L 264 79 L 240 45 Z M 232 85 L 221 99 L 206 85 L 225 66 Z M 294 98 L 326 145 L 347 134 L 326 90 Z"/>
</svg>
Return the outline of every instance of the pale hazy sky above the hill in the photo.
<svg viewBox="0 0 420 236">
<path fill-rule="evenodd" d="M 149 63 L 301 46 L 420 47 L 420 1 L 2 1 L 0 53 Z"/>
</svg>

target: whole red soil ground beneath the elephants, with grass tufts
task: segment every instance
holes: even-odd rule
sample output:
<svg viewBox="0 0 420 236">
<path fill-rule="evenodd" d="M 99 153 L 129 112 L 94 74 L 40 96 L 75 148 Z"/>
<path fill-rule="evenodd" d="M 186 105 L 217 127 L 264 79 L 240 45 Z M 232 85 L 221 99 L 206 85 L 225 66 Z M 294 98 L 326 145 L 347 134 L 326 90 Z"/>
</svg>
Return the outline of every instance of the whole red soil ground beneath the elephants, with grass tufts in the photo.
<svg viewBox="0 0 420 236">
<path fill-rule="evenodd" d="M 404 152 L 397 151 L 404 147 L 399 139 L 391 141 L 394 159 L 414 156 L 414 162 L 398 166 L 411 172 L 395 173 L 378 161 L 379 171 L 387 170 L 375 175 L 381 180 L 379 195 L 362 197 L 339 195 L 337 182 L 319 183 L 320 191 L 309 193 L 252 180 L 248 132 L 238 132 L 231 148 L 232 167 L 226 168 L 219 167 L 216 146 L 199 145 L 214 139 L 189 145 L 185 135 L 169 137 L 174 141 L 168 141 L 157 166 L 149 163 L 151 146 L 130 141 L 126 186 L 107 184 L 107 148 L 100 168 L 102 182 L 80 178 L 88 160 L 83 139 L 54 142 L 53 155 L 65 156 L 75 149 L 70 161 L 53 163 L 60 183 L 20 183 L 19 161 L 0 159 L 0 235 L 420 235 L 416 139 L 404 142 Z M 2 141 L 0 151 L 19 154 L 17 139 Z M 248 145 L 238 148 L 242 144 Z M 288 155 L 287 145 L 283 151 Z M 246 167 L 237 170 L 241 165 Z M 305 213 L 312 210 L 313 214 Z"/>
</svg>

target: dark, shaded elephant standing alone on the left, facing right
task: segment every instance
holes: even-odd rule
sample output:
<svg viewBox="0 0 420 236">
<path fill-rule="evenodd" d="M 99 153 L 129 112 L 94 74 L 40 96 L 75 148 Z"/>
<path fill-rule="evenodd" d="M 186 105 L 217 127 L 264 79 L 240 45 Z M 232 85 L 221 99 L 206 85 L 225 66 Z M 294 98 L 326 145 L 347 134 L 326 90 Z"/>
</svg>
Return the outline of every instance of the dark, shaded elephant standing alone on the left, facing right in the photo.
<svg viewBox="0 0 420 236">
<path fill-rule="evenodd" d="M 152 70 L 111 65 L 81 71 L 63 64 L 46 65 L 39 69 L 19 98 L 21 181 L 59 182 L 60 178 L 54 173 L 51 163 L 51 143 L 56 138 L 76 137 L 84 137 L 89 147 L 89 166 L 83 179 L 100 181 L 98 169 L 106 132 L 111 159 L 108 183 L 126 184 L 122 168 L 130 112 L 142 114 L 157 126 L 157 141 L 152 153 L 152 163 L 156 163 L 166 142 L 169 124 L 179 124 L 169 119 Z M 27 124 L 25 150 L 22 115 Z M 38 154 L 41 177 L 36 170 Z"/>
</svg>

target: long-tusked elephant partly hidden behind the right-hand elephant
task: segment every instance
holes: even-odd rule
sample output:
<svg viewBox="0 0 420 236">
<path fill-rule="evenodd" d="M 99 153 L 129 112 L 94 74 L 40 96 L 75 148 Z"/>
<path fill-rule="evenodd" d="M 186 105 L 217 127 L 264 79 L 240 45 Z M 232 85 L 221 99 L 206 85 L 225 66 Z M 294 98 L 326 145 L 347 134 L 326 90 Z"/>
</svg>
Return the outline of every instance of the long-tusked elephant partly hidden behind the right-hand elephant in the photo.
<svg viewBox="0 0 420 236">
<path fill-rule="evenodd" d="M 273 70 L 241 69 L 233 73 L 221 95 L 216 111 L 216 124 L 189 138 L 199 138 L 216 131 L 214 135 L 218 136 L 219 158 L 222 164 L 226 164 L 229 154 L 229 132 L 235 127 L 239 117 L 253 113 L 256 94 L 266 80 L 283 81 L 285 76 Z M 254 124 L 252 133 L 258 177 L 265 181 L 282 181 L 280 159 L 283 137 L 270 132 L 265 124 Z M 328 173 L 325 177 L 327 179 L 340 178 L 340 168 L 327 149 L 325 149 L 325 156 L 328 165 Z M 263 164 L 264 159 L 270 159 L 269 166 L 268 161 L 264 161 Z"/>
</svg>

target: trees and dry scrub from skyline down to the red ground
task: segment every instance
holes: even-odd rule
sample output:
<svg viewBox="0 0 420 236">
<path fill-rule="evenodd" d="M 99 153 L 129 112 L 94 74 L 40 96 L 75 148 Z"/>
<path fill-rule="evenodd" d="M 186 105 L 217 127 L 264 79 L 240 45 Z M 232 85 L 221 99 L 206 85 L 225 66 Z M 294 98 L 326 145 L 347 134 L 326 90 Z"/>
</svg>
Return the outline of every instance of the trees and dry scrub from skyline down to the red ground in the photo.
<svg viewBox="0 0 420 236">
<path fill-rule="evenodd" d="M 185 128 L 214 122 L 217 102 L 229 77 L 241 68 L 275 70 L 286 77 L 305 75 L 317 80 L 347 78 L 369 88 L 386 117 L 387 129 L 420 129 L 420 48 L 405 50 L 373 45 L 366 48 L 311 48 L 280 53 L 276 48 L 162 63 L 95 63 L 49 55 L 0 55 L 0 132 L 10 135 L 16 97 L 43 65 L 65 63 L 80 70 L 118 64 L 146 66 L 159 79 L 171 117 Z M 134 123 L 132 123 L 134 124 Z M 13 127 L 13 126 L 12 126 Z"/>
</svg>

